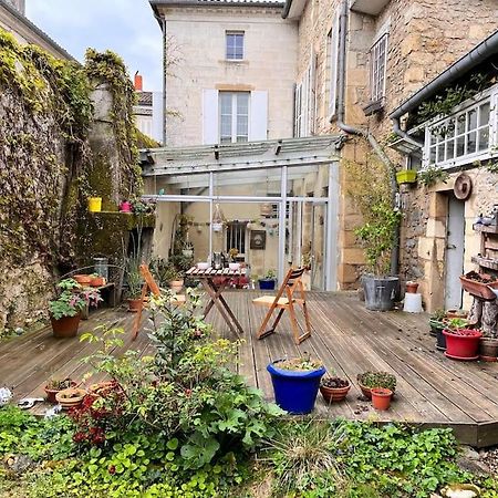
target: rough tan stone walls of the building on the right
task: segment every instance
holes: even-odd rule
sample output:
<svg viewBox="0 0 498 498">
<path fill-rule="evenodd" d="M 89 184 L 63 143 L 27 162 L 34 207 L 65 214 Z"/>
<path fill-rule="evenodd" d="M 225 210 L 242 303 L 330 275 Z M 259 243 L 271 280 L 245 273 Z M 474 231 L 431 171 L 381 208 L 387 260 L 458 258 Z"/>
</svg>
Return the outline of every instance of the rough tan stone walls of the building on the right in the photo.
<svg viewBox="0 0 498 498">
<path fill-rule="evenodd" d="M 342 132 L 333 114 L 333 95 L 336 95 L 336 89 L 333 89 L 336 69 L 333 43 L 336 43 L 335 27 L 342 7 L 343 2 L 339 0 L 288 0 L 284 8 L 286 18 L 294 20 L 299 27 L 298 83 L 305 75 L 310 58 L 315 58 L 315 116 L 312 129 L 315 134 Z M 393 135 L 390 114 L 495 32 L 498 29 L 498 6 L 492 0 L 350 0 L 346 15 L 344 123 L 373 135 L 397 168 L 406 167 L 407 160 L 413 167 L 419 167 L 421 149 L 407 159 L 406 155 L 387 147 Z M 372 61 L 376 56 L 374 50 L 378 50 L 383 39 L 385 46 L 380 50 L 386 51 L 385 80 L 381 82 L 380 102 L 375 103 L 372 102 Z M 356 135 L 347 134 L 347 137 L 342 149 L 343 159 L 367 162 L 372 155 L 371 145 Z M 474 176 L 474 173 L 470 172 L 470 175 Z M 457 173 L 450 172 L 449 181 L 430 189 L 417 186 L 403 187 L 401 191 L 401 277 L 422 282 L 421 290 L 429 310 L 445 304 L 448 198 L 456 176 Z M 364 260 L 353 231 L 361 224 L 361 217 L 347 199 L 345 168 L 341 177 L 339 249 L 342 264 L 339 281 L 345 289 L 357 286 Z M 478 245 L 478 237 L 471 231 L 471 220 L 484 209 L 484 205 L 497 201 L 496 188 L 490 188 L 490 184 L 492 178 L 489 175 L 477 172 L 474 193 L 465 206 L 466 270 L 471 268 L 470 256 Z M 437 196 L 432 194 L 436 191 L 439 193 Z M 465 304 L 468 305 L 468 298 Z"/>
</svg>

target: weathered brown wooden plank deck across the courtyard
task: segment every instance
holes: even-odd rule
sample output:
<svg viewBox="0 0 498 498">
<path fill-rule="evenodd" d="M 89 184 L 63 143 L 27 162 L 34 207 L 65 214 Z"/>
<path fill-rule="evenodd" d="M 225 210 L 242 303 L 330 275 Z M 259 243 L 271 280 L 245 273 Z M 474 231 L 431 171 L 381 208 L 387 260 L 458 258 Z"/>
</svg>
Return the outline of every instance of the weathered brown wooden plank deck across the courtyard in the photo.
<svg viewBox="0 0 498 498">
<path fill-rule="evenodd" d="M 345 376 L 353 384 L 346 402 L 326 405 L 321 397 L 315 412 L 321 417 L 350 419 L 395 419 L 422 426 L 447 426 L 473 446 L 498 444 L 498 364 L 456 362 L 435 346 L 428 334 L 427 315 L 403 312 L 371 312 L 349 293 L 308 294 L 313 334 L 297 346 L 287 317 L 279 332 L 262 341 L 255 340 L 266 309 L 251 304 L 259 292 L 234 291 L 224 295 L 245 330 L 237 369 L 247 381 L 272 400 L 269 362 L 310 353 L 320 357 L 329 372 Z M 131 331 L 134 315 L 123 310 L 101 310 L 82 322 L 81 332 L 102 322 L 115 322 Z M 208 315 L 217 332 L 230 339 L 228 326 L 216 311 Z M 153 353 L 145 332 L 137 341 L 125 335 L 125 344 L 115 353 L 134 347 Z M 15 398 L 43 395 L 48 377 L 71 375 L 81 378 L 89 370 L 81 359 L 96 349 L 77 339 L 56 340 L 45 328 L 0 343 L 0 386 L 13 388 Z M 356 374 L 383 370 L 397 376 L 396 396 L 388 412 L 377 413 L 363 401 Z M 39 407 L 40 411 L 40 407 Z"/>
</svg>

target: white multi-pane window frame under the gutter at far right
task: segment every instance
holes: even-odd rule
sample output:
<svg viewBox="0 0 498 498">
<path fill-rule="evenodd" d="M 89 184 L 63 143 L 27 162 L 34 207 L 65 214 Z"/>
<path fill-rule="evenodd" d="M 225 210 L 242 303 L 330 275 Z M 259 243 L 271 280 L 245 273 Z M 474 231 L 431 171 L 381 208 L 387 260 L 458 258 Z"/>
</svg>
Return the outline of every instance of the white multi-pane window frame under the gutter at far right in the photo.
<svg viewBox="0 0 498 498">
<path fill-rule="evenodd" d="M 489 104 L 489 121 L 481 123 L 480 110 Z M 476 113 L 476 127 L 469 128 L 469 115 Z M 458 120 L 465 123 L 465 128 L 457 128 Z M 424 123 L 425 143 L 423 167 L 437 166 L 452 168 L 466 165 L 475 160 L 487 160 L 498 156 L 498 84 L 487 89 L 456 106 L 449 116 L 436 117 Z M 480 133 L 488 128 L 488 147 L 479 151 Z M 444 133 L 439 133 L 443 131 Z M 448 132 L 449 131 L 449 132 Z M 468 153 L 469 137 L 475 134 L 476 149 Z M 457 156 L 457 141 L 464 138 L 464 154 Z M 461 142 L 460 142 L 461 143 Z M 452 149 L 453 147 L 453 149 Z M 449 155 L 453 157 L 448 158 Z M 453 151 L 453 153 L 452 153 Z M 444 157 L 440 156 L 444 154 Z M 443 160 L 439 160 L 439 159 Z"/>
</svg>

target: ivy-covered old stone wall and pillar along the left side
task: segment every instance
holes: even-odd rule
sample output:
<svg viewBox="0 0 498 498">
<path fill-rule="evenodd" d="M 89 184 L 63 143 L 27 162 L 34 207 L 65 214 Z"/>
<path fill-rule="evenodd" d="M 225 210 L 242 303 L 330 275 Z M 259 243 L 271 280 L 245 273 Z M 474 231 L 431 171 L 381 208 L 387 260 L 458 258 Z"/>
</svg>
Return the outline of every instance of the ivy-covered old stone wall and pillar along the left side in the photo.
<svg viewBox="0 0 498 498">
<path fill-rule="evenodd" d="M 141 194 L 133 100 L 115 54 L 89 50 L 80 65 L 0 30 L 0 333 L 46 318 L 58 277 L 91 255 L 89 196 L 117 211 Z"/>
</svg>

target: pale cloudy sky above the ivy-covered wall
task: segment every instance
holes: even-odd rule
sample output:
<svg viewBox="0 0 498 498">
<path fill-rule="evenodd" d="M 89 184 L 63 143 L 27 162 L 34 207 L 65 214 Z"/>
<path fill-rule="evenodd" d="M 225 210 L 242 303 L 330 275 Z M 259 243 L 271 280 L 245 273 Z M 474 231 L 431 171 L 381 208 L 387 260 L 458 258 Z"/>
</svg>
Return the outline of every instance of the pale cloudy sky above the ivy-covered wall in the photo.
<svg viewBox="0 0 498 498">
<path fill-rule="evenodd" d="M 148 0 L 25 0 L 25 14 L 83 61 L 87 46 L 118 53 L 144 90 L 160 91 L 162 33 Z"/>
</svg>

